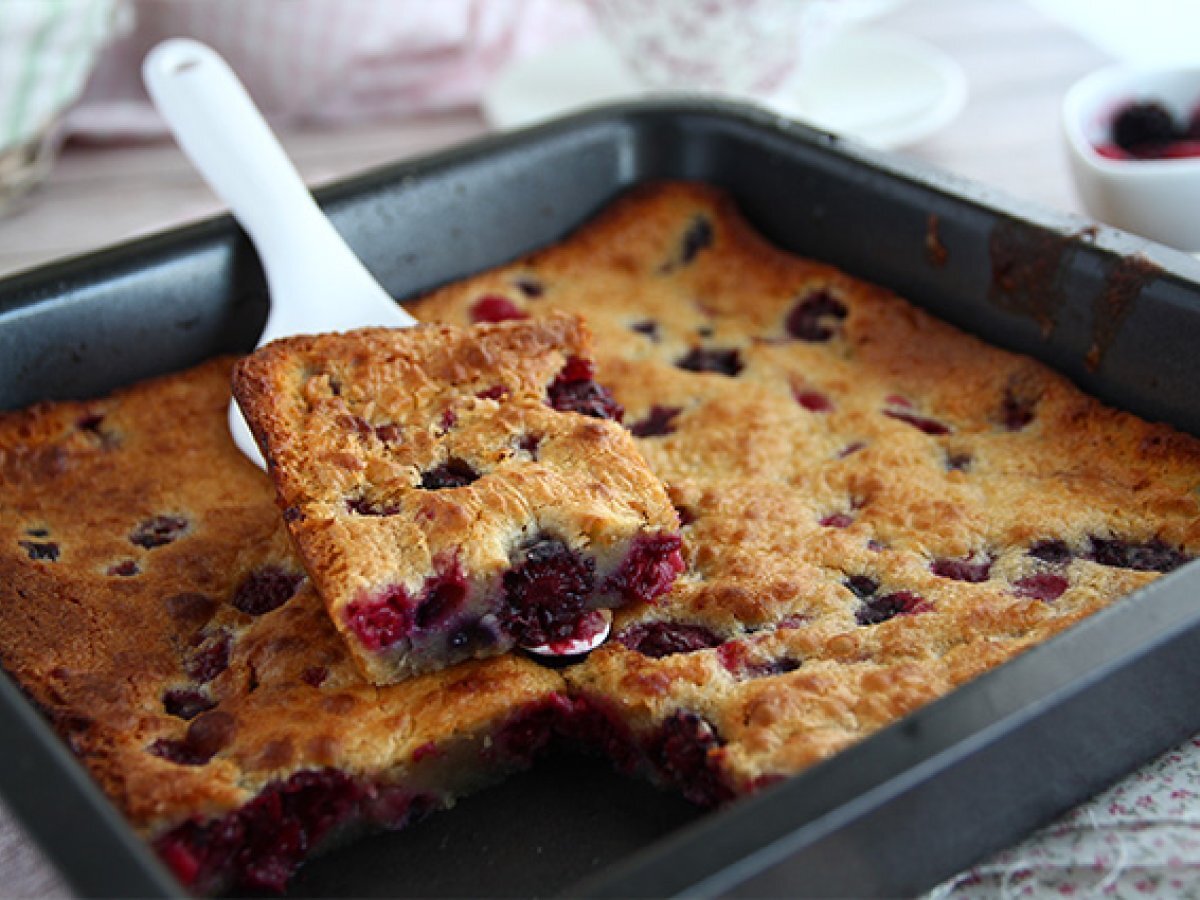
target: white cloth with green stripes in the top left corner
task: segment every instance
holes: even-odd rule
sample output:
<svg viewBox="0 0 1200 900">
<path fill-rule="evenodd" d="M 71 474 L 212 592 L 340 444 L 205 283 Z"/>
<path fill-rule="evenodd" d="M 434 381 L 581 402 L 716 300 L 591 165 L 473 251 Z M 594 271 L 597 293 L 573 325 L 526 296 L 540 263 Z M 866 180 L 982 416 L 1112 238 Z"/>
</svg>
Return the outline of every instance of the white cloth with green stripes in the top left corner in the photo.
<svg viewBox="0 0 1200 900">
<path fill-rule="evenodd" d="M 0 0 L 0 151 L 34 142 L 83 91 L 121 0 Z"/>
</svg>

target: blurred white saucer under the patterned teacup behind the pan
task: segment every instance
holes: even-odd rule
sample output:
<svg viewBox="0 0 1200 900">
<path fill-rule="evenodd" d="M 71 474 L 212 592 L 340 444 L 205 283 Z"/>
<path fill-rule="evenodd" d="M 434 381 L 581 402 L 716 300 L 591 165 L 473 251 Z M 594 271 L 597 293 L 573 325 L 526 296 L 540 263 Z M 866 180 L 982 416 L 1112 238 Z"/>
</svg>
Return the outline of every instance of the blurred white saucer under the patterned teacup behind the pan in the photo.
<svg viewBox="0 0 1200 900">
<path fill-rule="evenodd" d="M 602 38 L 517 60 L 484 91 L 484 115 L 515 128 L 583 107 L 652 94 Z M 946 126 L 966 102 L 959 65 L 923 41 L 883 31 L 839 36 L 792 83 L 757 98 L 782 115 L 878 148 L 912 144 Z"/>
</svg>

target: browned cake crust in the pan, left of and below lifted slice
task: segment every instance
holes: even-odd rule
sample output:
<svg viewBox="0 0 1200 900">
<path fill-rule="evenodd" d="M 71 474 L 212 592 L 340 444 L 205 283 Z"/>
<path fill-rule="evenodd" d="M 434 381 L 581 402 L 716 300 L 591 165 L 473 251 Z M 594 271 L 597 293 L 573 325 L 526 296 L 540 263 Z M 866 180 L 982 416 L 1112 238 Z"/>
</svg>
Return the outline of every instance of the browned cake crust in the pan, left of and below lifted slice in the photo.
<svg viewBox="0 0 1200 900">
<path fill-rule="evenodd" d="M 270 481 L 223 424 L 230 365 L 0 416 L 4 666 L 150 835 L 304 769 L 427 780 L 428 745 L 474 742 L 480 756 L 498 722 L 562 686 L 506 656 L 379 689 L 307 582 L 272 611 L 235 608 L 256 572 L 302 570 Z M 173 690 L 215 706 L 187 721 L 164 707 Z M 205 726 L 220 745 L 206 763 L 150 751 Z M 434 787 L 452 794 L 494 766 L 476 768 Z"/>
</svg>

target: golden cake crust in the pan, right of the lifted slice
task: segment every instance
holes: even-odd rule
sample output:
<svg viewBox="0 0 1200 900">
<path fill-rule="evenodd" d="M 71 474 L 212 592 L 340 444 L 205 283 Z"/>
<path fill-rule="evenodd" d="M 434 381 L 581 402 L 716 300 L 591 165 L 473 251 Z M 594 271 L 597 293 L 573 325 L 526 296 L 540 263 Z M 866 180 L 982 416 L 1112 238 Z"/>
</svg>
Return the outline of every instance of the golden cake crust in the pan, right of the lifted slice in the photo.
<svg viewBox="0 0 1200 900">
<path fill-rule="evenodd" d="M 638 443 L 684 511 L 689 570 L 655 608 L 619 613 L 616 630 L 683 623 L 726 643 L 655 659 L 612 641 L 566 678 L 641 733 L 677 710 L 704 716 L 740 790 L 836 752 L 1157 577 L 1100 564 L 1096 539 L 1150 545 L 1163 566 L 1200 547 L 1194 439 L 772 247 L 719 191 L 636 188 L 564 244 L 413 312 L 462 322 L 485 293 L 532 314 L 588 316 L 626 422 L 679 409 L 671 433 Z M 840 311 L 796 312 L 822 295 Z M 682 368 L 695 348 L 737 350 L 742 370 Z M 1063 542 L 1061 560 L 1030 553 L 1046 541 Z M 965 558 L 990 560 L 984 581 L 931 571 Z M 854 576 L 870 578 L 860 589 L 877 584 L 868 600 L 847 587 Z M 1054 600 L 1020 595 L 1054 593 L 1056 578 L 1067 587 Z M 928 608 L 858 624 L 896 592 Z"/>
</svg>

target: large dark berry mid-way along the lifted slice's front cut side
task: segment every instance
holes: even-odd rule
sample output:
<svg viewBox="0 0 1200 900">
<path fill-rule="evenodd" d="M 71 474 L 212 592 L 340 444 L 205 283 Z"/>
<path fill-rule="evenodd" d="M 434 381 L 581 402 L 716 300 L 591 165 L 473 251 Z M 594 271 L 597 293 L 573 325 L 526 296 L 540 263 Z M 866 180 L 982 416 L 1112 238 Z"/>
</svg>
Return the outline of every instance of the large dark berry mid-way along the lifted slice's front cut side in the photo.
<svg viewBox="0 0 1200 900">
<path fill-rule="evenodd" d="M 517 643 L 565 641 L 595 588 L 595 563 L 560 540 L 541 538 L 520 551 L 504 574 L 500 622 Z"/>
</svg>

